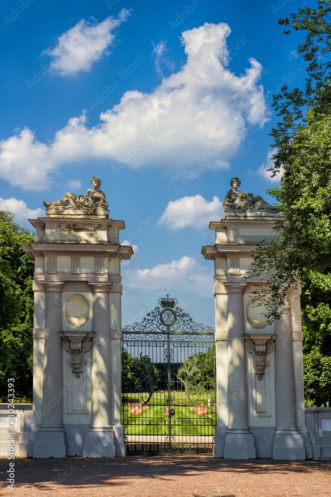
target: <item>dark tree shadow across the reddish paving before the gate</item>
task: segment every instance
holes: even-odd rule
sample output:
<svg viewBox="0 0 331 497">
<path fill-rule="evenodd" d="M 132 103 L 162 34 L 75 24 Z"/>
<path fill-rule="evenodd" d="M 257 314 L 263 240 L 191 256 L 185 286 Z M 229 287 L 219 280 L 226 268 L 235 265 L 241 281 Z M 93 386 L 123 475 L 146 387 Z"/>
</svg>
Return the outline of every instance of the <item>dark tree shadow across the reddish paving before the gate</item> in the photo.
<svg viewBox="0 0 331 497">
<path fill-rule="evenodd" d="M 35 486 L 38 490 L 47 490 L 48 484 L 69 487 L 91 485 L 107 485 L 121 487 L 130 485 L 135 478 L 152 478 L 164 481 L 172 476 L 181 477 L 185 485 L 185 477 L 201 473 L 232 472 L 236 474 L 253 473 L 264 475 L 275 472 L 289 474 L 307 474 L 313 472 L 329 472 L 329 461 L 273 461 L 257 460 L 224 460 L 205 456 L 130 456 L 126 458 L 81 458 L 67 457 L 63 459 L 23 459 L 15 460 L 15 484 Z M 7 459 L 0 459 L 0 484 L 4 483 L 9 468 Z"/>
</svg>

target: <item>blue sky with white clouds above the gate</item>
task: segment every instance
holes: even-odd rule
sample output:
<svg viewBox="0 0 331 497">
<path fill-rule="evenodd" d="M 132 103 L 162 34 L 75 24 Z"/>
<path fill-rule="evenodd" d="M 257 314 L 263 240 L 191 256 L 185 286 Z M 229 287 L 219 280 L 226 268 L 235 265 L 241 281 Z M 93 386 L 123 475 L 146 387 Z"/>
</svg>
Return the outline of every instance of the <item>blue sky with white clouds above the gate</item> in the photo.
<svg viewBox="0 0 331 497">
<path fill-rule="evenodd" d="M 135 251 L 122 268 L 124 324 L 169 292 L 213 326 L 213 267 L 199 253 L 231 177 L 273 203 L 272 94 L 305 77 L 301 34 L 277 19 L 304 5 L 1 3 L 0 208 L 29 226 L 43 200 L 99 176 Z"/>
</svg>

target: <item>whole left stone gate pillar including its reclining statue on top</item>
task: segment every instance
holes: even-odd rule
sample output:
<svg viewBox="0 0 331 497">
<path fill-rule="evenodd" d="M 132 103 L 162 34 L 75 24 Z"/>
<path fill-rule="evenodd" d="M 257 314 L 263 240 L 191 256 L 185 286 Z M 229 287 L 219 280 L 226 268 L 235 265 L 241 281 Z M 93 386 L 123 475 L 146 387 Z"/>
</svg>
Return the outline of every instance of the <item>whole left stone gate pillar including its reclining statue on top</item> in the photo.
<svg viewBox="0 0 331 497">
<path fill-rule="evenodd" d="M 33 425 L 28 456 L 126 454 L 121 423 L 123 221 L 99 178 L 87 194 L 45 203 L 35 241 Z"/>
</svg>

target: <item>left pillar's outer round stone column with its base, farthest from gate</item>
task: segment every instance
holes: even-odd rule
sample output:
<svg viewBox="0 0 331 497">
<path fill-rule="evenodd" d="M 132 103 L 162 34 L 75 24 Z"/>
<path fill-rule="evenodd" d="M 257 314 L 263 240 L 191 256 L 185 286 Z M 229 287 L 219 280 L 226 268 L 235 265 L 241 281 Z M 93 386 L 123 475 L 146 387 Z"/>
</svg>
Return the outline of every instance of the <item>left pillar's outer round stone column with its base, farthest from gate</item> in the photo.
<svg viewBox="0 0 331 497">
<path fill-rule="evenodd" d="M 63 427 L 62 288 L 61 281 L 44 281 L 45 345 L 42 423 L 36 433 L 33 457 L 66 457 Z"/>
</svg>

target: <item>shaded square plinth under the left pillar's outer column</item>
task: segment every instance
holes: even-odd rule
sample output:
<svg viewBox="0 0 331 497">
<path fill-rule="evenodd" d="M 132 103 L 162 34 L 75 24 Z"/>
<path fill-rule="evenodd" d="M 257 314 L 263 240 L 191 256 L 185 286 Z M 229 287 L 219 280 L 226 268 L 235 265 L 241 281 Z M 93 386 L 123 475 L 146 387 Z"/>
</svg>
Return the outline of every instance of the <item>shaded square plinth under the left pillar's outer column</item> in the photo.
<svg viewBox="0 0 331 497">
<path fill-rule="evenodd" d="M 66 433 L 62 428 L 40 428 L 35 436 L 33 457 L 66 457 Z"/>
</svg>

